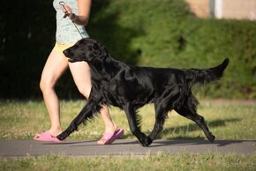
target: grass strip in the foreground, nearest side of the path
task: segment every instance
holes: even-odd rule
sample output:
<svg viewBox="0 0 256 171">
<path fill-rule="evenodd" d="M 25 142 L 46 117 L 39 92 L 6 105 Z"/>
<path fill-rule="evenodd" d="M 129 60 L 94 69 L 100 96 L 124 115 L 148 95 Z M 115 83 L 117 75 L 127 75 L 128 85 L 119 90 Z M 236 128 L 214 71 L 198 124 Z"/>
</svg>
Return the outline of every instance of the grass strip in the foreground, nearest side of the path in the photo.
<svg viewBox="0 0 256 171">
<path fill-rule="evenodd" d="M 2 158 L 0 170 L 255 170 L 256 154 Z"/>
</svg>

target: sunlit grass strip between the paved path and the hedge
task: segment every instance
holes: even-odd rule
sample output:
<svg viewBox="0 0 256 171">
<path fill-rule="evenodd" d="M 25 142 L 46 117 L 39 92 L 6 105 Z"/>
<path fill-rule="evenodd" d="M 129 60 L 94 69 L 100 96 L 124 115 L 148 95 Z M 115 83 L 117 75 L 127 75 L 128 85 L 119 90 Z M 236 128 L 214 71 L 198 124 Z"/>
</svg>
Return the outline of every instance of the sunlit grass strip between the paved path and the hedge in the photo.
<svg viewBox="0 0 256 171">
<path fill-rule="evenodd" d="M 63 129 L 85 103 L 84 100 L 61 101 Z M 205 117 L 216 139 L 256 139 L 254 103 L 255 101 L 243 100 L 201 100 L 198 112 Z M 117 125 L 124 129 L 124 138 L 135 138 L 129 129 L 124 111 L 111 107 L 110 114 Z M 142 130 L 148 134 L 154 125 L 154 106 L 147 105 L 141 108 L 139 115 L 142 116 Z M 35 133 L 49 129 L 49 115 L 42 101 L 1 101 L 0 129 L 0 139 L 33 138 Z M 80 130 L 73 133 L 70 138 L 100 138 L 103 130 L 99 115 L 87 126 L 80 126 Z M 158 138 L 203 139 L 205 136 L 198 125 L 172 111 Z"/>
</svg>

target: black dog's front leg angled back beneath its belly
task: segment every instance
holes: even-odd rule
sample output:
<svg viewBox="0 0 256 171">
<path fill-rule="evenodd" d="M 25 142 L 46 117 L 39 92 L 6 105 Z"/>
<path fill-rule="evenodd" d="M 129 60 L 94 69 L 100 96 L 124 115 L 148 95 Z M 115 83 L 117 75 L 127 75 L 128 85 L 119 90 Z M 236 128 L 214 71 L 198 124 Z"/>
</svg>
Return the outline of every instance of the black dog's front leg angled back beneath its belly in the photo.
<svg viewBox="0 0 256 171">
<path fill-rule="evenodd" d="M 126 104 L 124 107 L 124 112 L 126 114 L 130 130 L 132 131 L 132 134 L 139 139 L 139 142 L 143 146 L 148 146 L 152 142 L 149 141 L 147 136 L 141 132 L 140 125 L 139 125 L 139 116 L 135 112 L 135 108 L 132 104 Z"/>
</svg>

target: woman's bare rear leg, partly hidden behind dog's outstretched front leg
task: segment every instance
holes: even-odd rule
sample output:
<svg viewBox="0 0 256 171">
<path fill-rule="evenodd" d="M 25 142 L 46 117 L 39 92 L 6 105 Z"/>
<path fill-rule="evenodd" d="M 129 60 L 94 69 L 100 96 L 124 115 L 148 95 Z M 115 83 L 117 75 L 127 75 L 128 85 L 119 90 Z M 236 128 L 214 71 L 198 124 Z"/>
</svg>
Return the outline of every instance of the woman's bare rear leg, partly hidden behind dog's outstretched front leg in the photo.
<svg viewBox="0 0 256 171">
<path fill-rule="evenodd" d="M 77 62 L 69 63 L 69 67 L 79 92 L 88 98 L 92 88 L 89 65 L 86 62 Z M 107 106 L 103 106 L 101 115 L 105 125 L 105 132 L 114 134 L 115 130 L 117 130 L 117 124 L 112 121 Z"/>
</svg>

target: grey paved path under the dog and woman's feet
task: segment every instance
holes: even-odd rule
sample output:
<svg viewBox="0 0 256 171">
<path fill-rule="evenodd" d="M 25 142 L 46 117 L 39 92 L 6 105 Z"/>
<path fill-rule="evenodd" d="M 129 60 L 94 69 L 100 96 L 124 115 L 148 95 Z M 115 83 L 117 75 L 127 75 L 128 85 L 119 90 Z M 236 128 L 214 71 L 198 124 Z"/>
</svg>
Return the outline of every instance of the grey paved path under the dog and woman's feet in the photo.
<svg viewBox="0 0 256 171">
<path fill-rule="evenodd" d="M 96 140 L 67 140 L 63 143 L 39 142 L 34 140 L 0 141 L 0 157 L 40 156 L 62 154 L 72 156 L 92 155 L 149 155 L 176 153 L 237 153 L 256 152 L 256 140 L 154 140 L 150 147 L 139 145 L 135 139 L 118 139 L 112 145 L 97 145 Z"/>
</svg>

